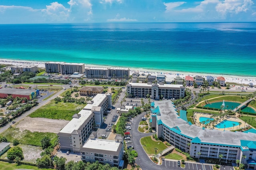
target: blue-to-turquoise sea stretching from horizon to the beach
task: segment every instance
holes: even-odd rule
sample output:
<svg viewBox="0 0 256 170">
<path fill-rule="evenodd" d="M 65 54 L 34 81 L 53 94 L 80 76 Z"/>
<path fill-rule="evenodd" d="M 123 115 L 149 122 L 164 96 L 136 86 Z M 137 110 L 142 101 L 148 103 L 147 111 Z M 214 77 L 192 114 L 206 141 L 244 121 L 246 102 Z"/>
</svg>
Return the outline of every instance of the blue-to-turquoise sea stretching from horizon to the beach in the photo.
<svg viewBox="0 0 256 170">
<path fill-rule="evenodd" d="M 256 23 L 2 24 L 0 59 L 256 76 Z"/>
</svg>

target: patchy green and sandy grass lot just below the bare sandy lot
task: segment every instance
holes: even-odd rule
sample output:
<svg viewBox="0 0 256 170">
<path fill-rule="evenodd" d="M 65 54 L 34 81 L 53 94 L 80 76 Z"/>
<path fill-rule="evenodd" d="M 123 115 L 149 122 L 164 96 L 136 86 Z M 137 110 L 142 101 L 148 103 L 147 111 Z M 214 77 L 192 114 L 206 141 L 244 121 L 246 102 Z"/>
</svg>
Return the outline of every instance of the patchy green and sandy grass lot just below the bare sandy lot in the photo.
<svg viewBox="0 0 256 170">
<path fill-rule="evenodd" d="M 19 128 L 8 128 L 1 135 L 6 137 L 10 142 L 14 139 L 18 139 L 21 144 L 38 147 L 41 147 L 41 140 L 46 136 L 51 139 L 52 144 L 54 144 L 54 141 L 57 139 L 57 135 L 55 133 L 31 132 L 28 130 L 21 132 L 19 131 Z"/>
</svg>

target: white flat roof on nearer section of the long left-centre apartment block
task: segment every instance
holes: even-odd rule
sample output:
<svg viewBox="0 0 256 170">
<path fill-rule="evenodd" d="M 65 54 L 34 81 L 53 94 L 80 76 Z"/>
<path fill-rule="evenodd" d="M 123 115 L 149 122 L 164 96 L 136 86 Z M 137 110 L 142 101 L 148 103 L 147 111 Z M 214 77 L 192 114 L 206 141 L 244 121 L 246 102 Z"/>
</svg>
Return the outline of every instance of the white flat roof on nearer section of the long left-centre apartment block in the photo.
<svg viewBox="0 0 256 170">
<path fill-rule="evenodd" d="M 78 114 L 79 118 L 73 118 L 59 133 L 72 133 L 74 130 L 78 130 L 82 124 L 92 115 L 92 111 L 82 109 Z"/>
</svg>

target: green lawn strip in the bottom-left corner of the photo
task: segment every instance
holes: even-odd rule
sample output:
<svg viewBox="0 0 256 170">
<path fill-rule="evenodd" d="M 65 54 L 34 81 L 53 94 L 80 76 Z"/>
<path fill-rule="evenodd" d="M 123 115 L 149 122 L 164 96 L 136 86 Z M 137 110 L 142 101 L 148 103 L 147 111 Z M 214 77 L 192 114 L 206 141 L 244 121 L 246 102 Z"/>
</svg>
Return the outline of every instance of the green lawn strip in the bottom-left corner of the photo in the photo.
<svg viewBox="0 0 256 170">
<path fill-rule="evenodd" d="M 15 169 L 30 169 L 30 170 L 52 170 L 47 168 L 37 168 L 36 166 L 30 166 L 30 165 L 17 165 L 17 164 L 11 164 L 8 162 L 0 161 L 0 170 L 15 170 Z"/>
</svg>

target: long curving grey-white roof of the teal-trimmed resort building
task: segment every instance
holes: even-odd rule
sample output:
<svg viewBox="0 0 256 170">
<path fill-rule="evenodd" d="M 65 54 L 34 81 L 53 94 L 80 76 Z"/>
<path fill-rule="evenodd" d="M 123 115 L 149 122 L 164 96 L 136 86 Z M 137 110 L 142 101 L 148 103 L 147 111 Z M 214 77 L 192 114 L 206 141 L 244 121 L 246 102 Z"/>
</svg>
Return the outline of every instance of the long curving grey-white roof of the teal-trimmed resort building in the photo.
<svg viewBox="0 0 256 170">
<path fill-rule="evenodd" d="M 191 139 L 198 137 L 201 143 L 241 146 L 241 140 L 256 141 L 255 133 L 218 131 L 216 129 L 202 129 L 202 127 L 190 125 L 178 116 L 176 108 L 170 100 L 155 101 L 154 106 L 155 110 L 159 109 L 160 112 L 160 114 L 156 115 L 157 120 L 161 120 L 164 125 L 170 129 L 176 129 L 176 132 L 186 137 Z"/>
</svg>

